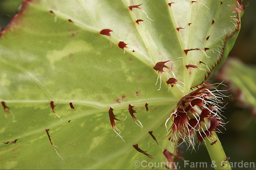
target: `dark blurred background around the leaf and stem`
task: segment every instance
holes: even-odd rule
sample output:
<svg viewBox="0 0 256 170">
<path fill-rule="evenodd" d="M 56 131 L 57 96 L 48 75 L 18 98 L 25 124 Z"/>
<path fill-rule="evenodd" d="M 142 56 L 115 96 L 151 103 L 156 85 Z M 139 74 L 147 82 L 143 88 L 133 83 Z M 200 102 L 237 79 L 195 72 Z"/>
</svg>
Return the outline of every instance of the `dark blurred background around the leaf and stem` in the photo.
<svg viewBox="0 0 256 170">
<path fill-rule="evenodd" d="M 16 13 L 21 3 L 22 0 L 0 0 L 1 28 L 5 27 L 10 22 L 11 16 Z M 256 0 L 244 0 L 243 5 L 248 6 L 245 8 L 245 13 L 242 17 L 240 34 L 228 59 L 237 57 L 245 64 L 256 69 Z M 221 82 L 223 79 L 221 80 L 219 75 L 219 72 L 217 72 L 210 80 L 211 83 Z M 225 81 L 224 84 L 226 84 Z M 253 90 L 256 91 L 256 89 Z M 225 95 L 231 95 L 233 91 L 235 90 L 231 89 L 225 92 Z M 223 115 L 227 118 L 225 119 L 225 122 L 228 123 L 225 126 L 226 131 L 221 128 L 223 134 L 218 134 L 218 137 L 224 146 L 226 155 L 230 156 L 230 162 L 254 162 L 256 165 L 256 133 L 254 131 L 256 130 L 255 115 L 251 114 L 251 110 L 248 106 L 245 107 L 241 102 L 238 102 L 236 98 L 236 94 L 232 94 L 230 98 L 225 98 L 225 102 L 228 102 L 228 104 L 226 105 L 226 109 L 223 109 Z M 200 145 L 199 149 L 196 149 L 196 151 L 186 151 L 186 149 L 187 147 L 184 145 L 179 147 L 179 152 L 185 160 L 189 160 L 190 162 L 211 163 L 208 152 L 203 145 Z M 184 163 L 182 160 L 176 161 L 183 167 Z M 210 168 L 210 166 L 208 166 L 208 168 Z M 190 168 L 187 167 L 185 169 Z M 239 168 L 236 167 L 236 169 Z M 256 167 L 251 169 L 256 169 Z"/>
</svg>

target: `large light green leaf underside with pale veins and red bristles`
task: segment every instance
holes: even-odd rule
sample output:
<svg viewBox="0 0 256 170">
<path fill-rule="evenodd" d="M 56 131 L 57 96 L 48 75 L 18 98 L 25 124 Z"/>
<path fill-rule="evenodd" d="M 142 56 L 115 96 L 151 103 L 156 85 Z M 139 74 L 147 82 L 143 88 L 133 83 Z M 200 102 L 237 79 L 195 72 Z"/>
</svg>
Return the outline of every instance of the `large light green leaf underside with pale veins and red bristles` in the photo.
<svg viewBox="0 0 256 170">
<path fill-rule="evenodd" d="M 148 153 L 166 162 L 148 131 L 157 138 L 166 133 L 165 120 L 177 102 L 208 75 L 199 62 L 212 69 L 226 40 L 221 65 L 239 31 L 230 17 L 236 13 L 227 6 L 238 7 L 235 0 L 172 2 L 171 7 L 169 1 L 24 3 L 0 39 L 0 101 L 11 108 L 6 118 L 3 110 L 0 115 L 0 142 L 18 139 L 16 144 L 0 144 L 0 168 L 134 168 L 134 160 L 153 160 L 132 145 L 140 144 L 145 151 L 150 141 Z M 141 3 L 149 18 L 138 8 L 127 8 Z M 136 19 L 144 21 L 138 25 Z M 177 31 L 179 27 L 184 29 Z M 102 29 L 113 30 L 111 37 L 101 35 Z M 224 30 L 227 35 L 236 32 L 225 38 Z M 119 41 L 128 44 L 125 53 L 117 46 Z M 186 55 L 184 50 L 190 48 L 210 48 L 206 51 L 210 58 L 199 50 Z M 173 60 L 166 65 L 184 89 L 174 85 L 168 92 L 165 82 L 173 74 L 164 68 L 157 90 L 158 73 L 153 67 L 167 60 Z M 203 70 L 187 69 L 188 64 Z M 53 113 L 51 101 L 58 103 L 54 111 L 60 118 Z M 151 114 L 146 113 L 145 103 Z M 135 106 L 142 130 L 131 118 L 129 104 Z M 110 107 L 120 120 L 127 115 L 125 121 L 115 121 L 126 145 L 115 138 Z M 45 129 L 50 129 L 64 160 L 51 146 Z M 163 149 L 170 149 L 168 138 L 161 139 Z"/>
</svg>

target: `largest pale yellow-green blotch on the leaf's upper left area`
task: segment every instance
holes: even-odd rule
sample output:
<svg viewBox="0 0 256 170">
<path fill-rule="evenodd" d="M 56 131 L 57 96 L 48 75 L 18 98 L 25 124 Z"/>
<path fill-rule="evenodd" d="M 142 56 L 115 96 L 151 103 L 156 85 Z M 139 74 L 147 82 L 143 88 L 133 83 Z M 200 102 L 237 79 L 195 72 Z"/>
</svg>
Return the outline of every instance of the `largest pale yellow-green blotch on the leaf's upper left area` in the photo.
<svg viewBox="0 0 256 170">
<path fill-rule="evenodd" d="M 53 66 L 54 62 L 61 60 L 61 58 L 66 57 L 71 53 L 81 51 L 88 52 L 92 49 L 93 47 L 90 44 L 87 44 L 85 41 L 71 41 L 63 48 L 63 50 L 49 51 L 46 57 L 49 60 L 51 66 Z"/>
</svg>

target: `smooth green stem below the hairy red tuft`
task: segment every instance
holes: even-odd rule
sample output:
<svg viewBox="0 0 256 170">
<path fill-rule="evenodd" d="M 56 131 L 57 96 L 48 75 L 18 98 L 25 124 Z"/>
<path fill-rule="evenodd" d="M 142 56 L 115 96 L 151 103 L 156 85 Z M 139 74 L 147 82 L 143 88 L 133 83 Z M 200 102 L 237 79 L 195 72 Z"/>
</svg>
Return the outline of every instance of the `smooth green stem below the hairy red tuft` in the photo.
<svg viewBox="0 0 256 170">
<path fill-rule="evenodd" d="M 228 160 L 225 161 L 227 156 L 223 150 L 217 134 L 215 132 L 212 132 L 212 134 L 213 138 L 209 138 L 210 140 L 205 138 L 205 146 L 212 159 L 211 166 L 214 167 L 214 169 L 231 169 Z"/>
</svg>

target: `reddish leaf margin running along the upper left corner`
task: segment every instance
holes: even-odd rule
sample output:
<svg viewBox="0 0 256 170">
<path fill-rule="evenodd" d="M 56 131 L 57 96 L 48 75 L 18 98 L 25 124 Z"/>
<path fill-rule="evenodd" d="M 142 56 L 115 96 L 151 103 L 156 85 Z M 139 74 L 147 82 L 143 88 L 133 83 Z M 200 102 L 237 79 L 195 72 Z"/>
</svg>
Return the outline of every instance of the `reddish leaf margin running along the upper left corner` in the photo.
<svg viewBox="0 0 256 170">
<path fill-rule="evenodd" d="M 26 10 L 26 8 L 29 6 L 29 3 L 31 2 L 31 0 L 24 0 L 22 2 L 22 4 L 20 5 L 20 10 L 19 12 L 17 12 L 13 17 L 12 20 L 9 22 L 8 26 L 6 26 L 5 28 L 2 28 L 0 31 L 0 37 L 3 38 L 3 35 L 6 33 L 6 31 L 10 30 L 12 26 L 19 24 L 19 22 L 21 21 L 19 18 L 21 15 L 24 14 L 24 11 Z"/>
</svg>

